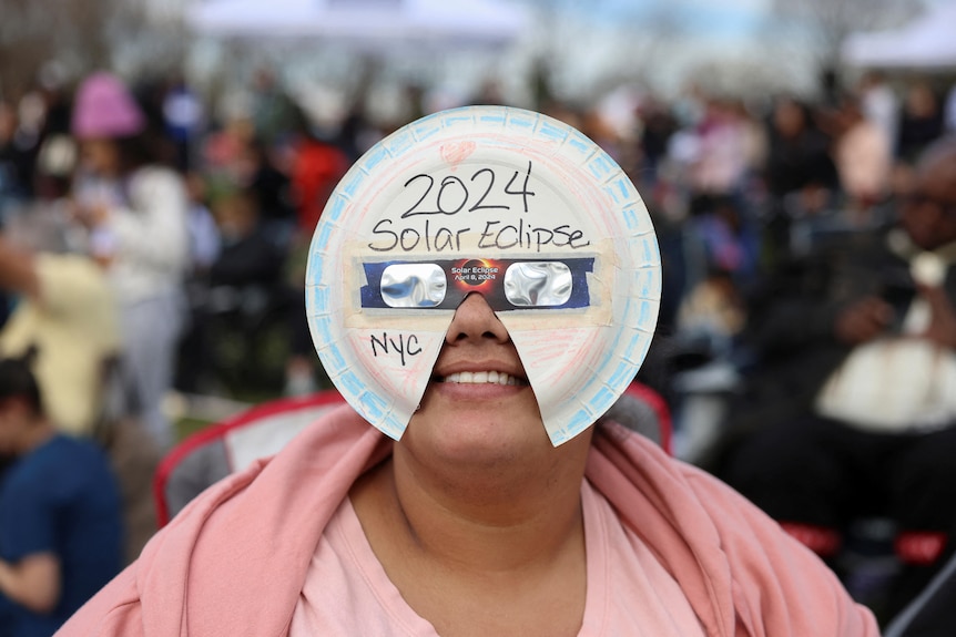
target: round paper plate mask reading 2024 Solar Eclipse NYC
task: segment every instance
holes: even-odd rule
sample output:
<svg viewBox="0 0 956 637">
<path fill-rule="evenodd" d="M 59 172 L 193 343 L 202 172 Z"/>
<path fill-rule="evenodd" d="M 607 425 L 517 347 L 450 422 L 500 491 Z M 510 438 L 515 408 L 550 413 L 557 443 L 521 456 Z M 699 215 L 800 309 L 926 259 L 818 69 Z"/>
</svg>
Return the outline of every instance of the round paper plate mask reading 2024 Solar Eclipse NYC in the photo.
<svg viewBox="0 0 956 637">
<path fill-rule="evenodd" d="M 444 111 L 348 171 L 309 248 L 306 311 L 345 399 L 398 440 L 455 309 L 485 295 L 556 446 L 633 380 L 653 336 L 660 255 L 621 168 L 574 129 L 500 106 Z"/>
</svg>

